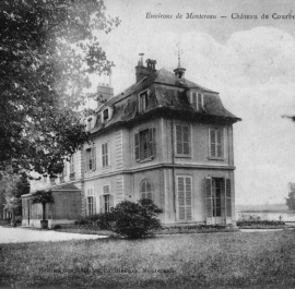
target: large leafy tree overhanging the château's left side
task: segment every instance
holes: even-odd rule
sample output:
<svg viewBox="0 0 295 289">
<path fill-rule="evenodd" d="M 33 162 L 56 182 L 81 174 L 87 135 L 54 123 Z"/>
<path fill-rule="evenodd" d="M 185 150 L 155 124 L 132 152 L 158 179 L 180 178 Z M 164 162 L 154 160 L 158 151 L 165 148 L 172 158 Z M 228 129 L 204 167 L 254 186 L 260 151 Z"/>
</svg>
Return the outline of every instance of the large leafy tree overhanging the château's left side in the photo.
<svg viewBox="0 0 295 289">
<path fill-rule="evenodd" d="M 55 177 L 88 141 L 88 74 L 114 65 L 93 32 L 118 24 L 103 0 L 0 2 L 0 171 Z"/>
</svg>

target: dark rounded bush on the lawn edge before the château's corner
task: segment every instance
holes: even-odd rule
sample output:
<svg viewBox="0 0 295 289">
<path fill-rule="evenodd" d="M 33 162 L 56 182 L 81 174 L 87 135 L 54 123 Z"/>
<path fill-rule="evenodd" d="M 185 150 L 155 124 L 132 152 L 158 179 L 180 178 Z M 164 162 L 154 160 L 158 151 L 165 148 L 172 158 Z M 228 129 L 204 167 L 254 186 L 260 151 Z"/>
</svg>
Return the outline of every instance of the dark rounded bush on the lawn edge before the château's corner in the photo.
<svg viewBox="0 0 295 289">
<path fill-rule="evenodd" d="M 114 231 L 128 239 L 146 237 L 162 229 L 156 218 L 161 213 L 163 210 L 150 198 L 142 198 L 138 203 L 122 201 L 113 209 Z"/>
</svg>

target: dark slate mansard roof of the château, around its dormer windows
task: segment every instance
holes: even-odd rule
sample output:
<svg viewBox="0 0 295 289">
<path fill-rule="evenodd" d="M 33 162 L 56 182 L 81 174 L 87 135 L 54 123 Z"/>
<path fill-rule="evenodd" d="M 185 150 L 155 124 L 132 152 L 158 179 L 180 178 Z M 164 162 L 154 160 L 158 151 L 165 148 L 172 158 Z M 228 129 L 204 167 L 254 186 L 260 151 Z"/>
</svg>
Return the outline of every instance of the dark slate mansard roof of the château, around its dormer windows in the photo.
<svg viewBox="0 0 295 289">
<path fill-rule="evenodd" d="M 108 99 L 108 101 L 99 108 L 97 113 L 107 107 L 113 107 L 114 113 L 111 119 L 106 123 L 102 123 L 102 119 L 97 118 L 96 125 L 92 130 L 92 133 L 103 131 L 115 124 L 127 123 L 137 118 L 142 118 L 143 115 L 138 111 L 138 94 L 144 89 L 149 89 L 149 106 L 144 113 L 148 116 L 169 113 L 170 116 L 178 115 L 180 118 L 190 117 L 191 119 L 202 120 L 219 119 L 226 120 L 231 123 L 240 120 L 224 108 L 219 93 L 184 77 L 179 80 L 174 73 L 161 69 L 131 85 L 121 94 Z M 205 95 L 203 111 L 196 111 L 191 107 L 187 97 L 188 89 L 197 89 Z"/>
</svg>

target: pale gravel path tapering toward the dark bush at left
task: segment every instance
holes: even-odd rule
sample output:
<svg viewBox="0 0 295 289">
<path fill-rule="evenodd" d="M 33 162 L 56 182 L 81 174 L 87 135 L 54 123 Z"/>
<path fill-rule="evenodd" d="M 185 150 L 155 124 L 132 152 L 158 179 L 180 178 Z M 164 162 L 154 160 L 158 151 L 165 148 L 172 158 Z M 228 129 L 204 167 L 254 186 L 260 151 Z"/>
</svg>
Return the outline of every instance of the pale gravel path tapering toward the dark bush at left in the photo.
<svg viewBox="0 0 295 289">
<path fill-rule="evenodd" d="M 30 230 L 24 228 L 5 228 L 0 226 L 0 243 L 49 242 L 68 240 L 93 240 L 107 236 L 68 233 L 57 231 Z"/>
</svg>

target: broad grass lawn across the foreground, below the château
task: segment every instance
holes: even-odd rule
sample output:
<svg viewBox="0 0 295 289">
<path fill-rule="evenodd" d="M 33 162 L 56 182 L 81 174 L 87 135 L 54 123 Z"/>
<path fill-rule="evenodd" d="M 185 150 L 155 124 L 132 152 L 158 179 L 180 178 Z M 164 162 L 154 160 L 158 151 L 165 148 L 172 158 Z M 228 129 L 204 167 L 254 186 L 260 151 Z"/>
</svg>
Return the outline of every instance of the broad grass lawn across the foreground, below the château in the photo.
<svg viewBox="0 0 295 289">
<path fill-rule="evenodd" d="M 0 288 L 294 288 L 295 231 L 1 244 Z"/>
</svg>

